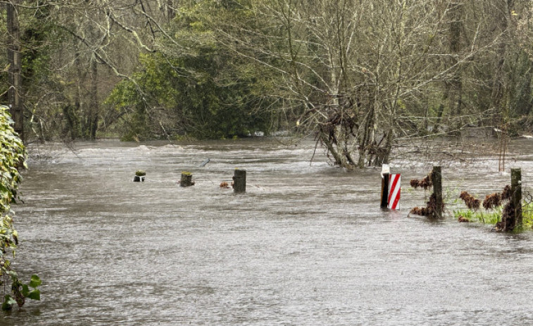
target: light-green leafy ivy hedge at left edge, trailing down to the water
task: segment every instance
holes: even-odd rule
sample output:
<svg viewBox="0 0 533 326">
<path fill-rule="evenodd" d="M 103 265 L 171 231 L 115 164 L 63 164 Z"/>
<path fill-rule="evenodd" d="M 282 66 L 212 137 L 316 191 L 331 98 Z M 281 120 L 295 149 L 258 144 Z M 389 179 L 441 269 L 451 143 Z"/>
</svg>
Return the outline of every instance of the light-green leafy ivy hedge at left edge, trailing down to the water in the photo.
<svg viewBox="0 0 533 326">
<path fill-rule="evenodd" d="M 37 275 L 32 276 L 29 284 L 23 284 L 11 268 L 11 257 L 15 257 L 18 245 L 11 203 L 15 202 L 18 184 L 22 181 L 18 169 L 26 167 L 25 147 L 11 127 L 12 123 L 8 108 L 0 106 L 0 284 L 4 284 L 4 311 L 11 310 L 15 303 L 23 306 L 25 298 L 39 300 L 40 292 L 36 288 L 41 284 Z M 6 293 L 6 285 L 10 281 L 11 293 Z"/>
</svg>

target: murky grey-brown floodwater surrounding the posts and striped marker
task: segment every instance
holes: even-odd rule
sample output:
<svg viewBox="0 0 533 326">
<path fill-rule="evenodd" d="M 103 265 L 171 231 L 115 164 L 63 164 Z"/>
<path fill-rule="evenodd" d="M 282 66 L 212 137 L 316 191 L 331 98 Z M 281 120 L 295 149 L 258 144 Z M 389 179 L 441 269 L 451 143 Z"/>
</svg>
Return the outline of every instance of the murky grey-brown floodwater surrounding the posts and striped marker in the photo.
<svg viewBox="0 0 533 326">
<path fill-rule="evenodd" d="M 533 141 L 511 146 L 527 192 Z M 533 237 L 409 216 L 432 162 L 392 164 L 401 210 L 380 209 L 380 170 L 347 173 L 314 142 L 32 146 L 15 206 L 16 269 L 41 301 L 0 325 L 531 325 Z M 206 158 L 211 162 L 198 165 Z M 234 168 L 246 194 L 220 189 Z M 132 182 L 135 170 L 146 182 Z M 194 187 L 179 187 L 182 171 Z M 460 190 L 501 191 L 494 159 L 443 165 Z"/>
</svg>

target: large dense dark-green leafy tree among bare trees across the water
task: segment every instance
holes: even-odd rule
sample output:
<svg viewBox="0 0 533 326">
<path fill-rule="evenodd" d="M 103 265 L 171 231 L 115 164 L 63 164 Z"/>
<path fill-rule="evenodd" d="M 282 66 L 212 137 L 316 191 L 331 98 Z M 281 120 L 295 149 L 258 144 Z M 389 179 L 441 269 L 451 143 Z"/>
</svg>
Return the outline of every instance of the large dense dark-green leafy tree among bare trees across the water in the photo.
<svg viewBox="0 0 533 326">
<path fill-rule="evenodd" d="M 142 55 L 137 73 L 108 96 L 106 103 L 123 113 L 123 140 L 268 133 L 270 113 L 259 110 L 265 105 L 258 96 L 265 92 L 261 71 L 218 46 L 204 9 L 181 8 L 171 27 L 180 44 Z"/>
</svg>

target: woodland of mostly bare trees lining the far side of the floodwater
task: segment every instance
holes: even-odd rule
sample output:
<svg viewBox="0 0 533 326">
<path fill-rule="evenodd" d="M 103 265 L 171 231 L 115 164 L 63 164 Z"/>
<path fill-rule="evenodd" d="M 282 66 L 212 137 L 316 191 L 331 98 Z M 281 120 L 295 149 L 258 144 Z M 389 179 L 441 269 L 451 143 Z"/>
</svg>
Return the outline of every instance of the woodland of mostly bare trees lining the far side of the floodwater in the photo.
<svg viewBox="0 0 533 326">
<path fill-rule="evenodd" d="M 284 130 L 361 167 L 401 139 L 533 129 L 532 1 L 11 2 L 27 139 Z"/>
</svg>

